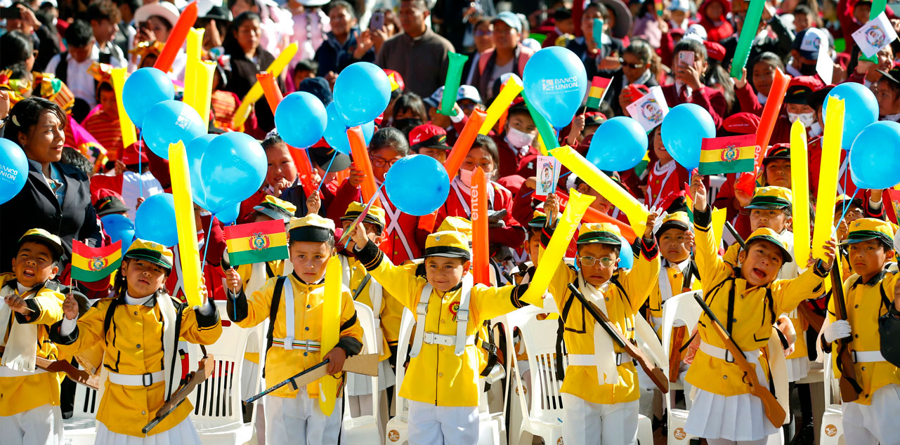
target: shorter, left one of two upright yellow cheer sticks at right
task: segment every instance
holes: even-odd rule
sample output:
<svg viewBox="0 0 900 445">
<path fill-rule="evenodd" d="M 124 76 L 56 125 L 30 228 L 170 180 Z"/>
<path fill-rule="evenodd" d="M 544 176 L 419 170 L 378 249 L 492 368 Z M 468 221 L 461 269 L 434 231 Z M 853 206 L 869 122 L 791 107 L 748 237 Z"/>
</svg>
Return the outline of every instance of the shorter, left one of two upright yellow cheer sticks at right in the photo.
<svg viewBox="0 0 900 445">
<path fill-rule="evenodd" d="M 806 128 L 799 120 L 790 128 L 790 182 L 794 192 L 794 257 L 797 263 L 803 263 L 810 252 L 809 172 L 806 167 Z"/>
</svg>

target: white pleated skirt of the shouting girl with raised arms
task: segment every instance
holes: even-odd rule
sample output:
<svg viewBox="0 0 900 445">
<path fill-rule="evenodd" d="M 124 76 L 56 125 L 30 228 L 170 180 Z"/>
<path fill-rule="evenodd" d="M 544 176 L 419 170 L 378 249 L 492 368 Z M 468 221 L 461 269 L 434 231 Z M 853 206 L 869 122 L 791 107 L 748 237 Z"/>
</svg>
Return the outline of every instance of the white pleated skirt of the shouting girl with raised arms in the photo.
<svg viewBox="0 0 900 445">
<path fill-rule="evenodd" d="M 684 431 L 692 436 L 728 441 L 759 441 L 778 432 L 766 417 L 760 397 L 720 396 L 697 388 Z"/>
</svg>

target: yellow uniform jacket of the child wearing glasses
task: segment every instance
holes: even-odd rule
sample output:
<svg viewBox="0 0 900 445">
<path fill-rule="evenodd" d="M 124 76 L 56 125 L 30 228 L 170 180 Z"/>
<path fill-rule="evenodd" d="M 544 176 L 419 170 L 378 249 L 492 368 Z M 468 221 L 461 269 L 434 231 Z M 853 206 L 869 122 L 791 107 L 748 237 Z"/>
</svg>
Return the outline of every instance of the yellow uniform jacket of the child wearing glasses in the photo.
<svg viewBox="0 0 900 445">
<path fill-rule="evenodd" d="M 604 292 L 606 315 L 620 333 L 629 340 L 635 339 L 635 316 L 644 306 L 660 273 L 659 248 L 656 240 L 641 243 L 641 254 L 635 259 L 631 271 L 618 271 L 608 281 Z M 556 307 L 563 319 L 563 341 L 570 354 L 594 354 L 594 330 L 602 329 L 593 316 L 568 289 L 569 283 L 578 285 L 578 272 L 565 264 L 556 269 L 547 289 L 553 295 Z M 614 345 L 616 353 L 625 351 Z M 632 402 L 640 394 L 637 387 L 637 369 L 627 354 L 617 367 L 618 383 L 600 385 L 595 366 L 569 365 L 563 379 L 563 393 L 581 397 L 594 404 L 613 405 Z"/>
</svg>

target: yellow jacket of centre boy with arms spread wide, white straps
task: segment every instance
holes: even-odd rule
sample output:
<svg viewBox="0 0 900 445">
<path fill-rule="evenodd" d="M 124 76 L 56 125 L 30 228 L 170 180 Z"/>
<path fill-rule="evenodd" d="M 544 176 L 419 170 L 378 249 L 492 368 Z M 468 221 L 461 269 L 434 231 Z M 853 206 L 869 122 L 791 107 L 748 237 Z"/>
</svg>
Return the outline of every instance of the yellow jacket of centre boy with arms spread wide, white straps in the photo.
<svg viewBox="0 0 900 445">
<path fill-rule="evenodd" d="M 371 241 L 356 253 L 356 257 L 374 280 L 383 283 L 384 289 L 418 318 L 416 307 L 422 289 L 428 284 L 425 277 L 417 276 L 414 268 L 393 265 Z M 465 334 L 474 335 L 484 320 L 525 306 L 527 303 L 519 300 L 525 289 L 527 286 L 473 286 Z M 455 335 L 455 310 L 462 293 L 461 286 L 444 294 L 432 290 L 428 316 L 424 321 L 417 319 L 417 323 L 425 323 L 425 332 Z M 474 344 L 468 344 L 463 354 L 457 356 L 452 346 L 423 343 L 419 355 L 410 359 L 400 396 L 438 406 L 477 406 L 481 369 L 477 349 Z"/>
</svg>

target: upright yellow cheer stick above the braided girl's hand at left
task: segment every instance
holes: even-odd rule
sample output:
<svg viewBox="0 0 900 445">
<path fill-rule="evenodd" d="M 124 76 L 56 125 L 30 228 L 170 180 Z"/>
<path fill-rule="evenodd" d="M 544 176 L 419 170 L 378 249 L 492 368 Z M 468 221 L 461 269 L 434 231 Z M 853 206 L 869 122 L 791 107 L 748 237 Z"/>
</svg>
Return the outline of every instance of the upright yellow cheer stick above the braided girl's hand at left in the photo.
<svg viewBox="0 0 900 445">
<path fill-rule="evenodd" d="M 175 197 L 175 226 L 178 232 L 178 256 L 181 259 L 181 280 L 184 298 L 191 306 L 200 306 L 200 252 L 197 250 L 197 227 L 193 219 L 191 174 L 187 167 L 184 142 L 169 144 L 169 175 Z"/>
</svg>

